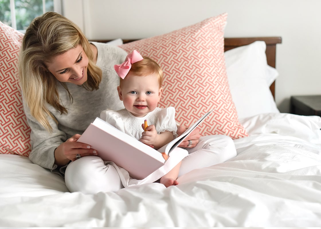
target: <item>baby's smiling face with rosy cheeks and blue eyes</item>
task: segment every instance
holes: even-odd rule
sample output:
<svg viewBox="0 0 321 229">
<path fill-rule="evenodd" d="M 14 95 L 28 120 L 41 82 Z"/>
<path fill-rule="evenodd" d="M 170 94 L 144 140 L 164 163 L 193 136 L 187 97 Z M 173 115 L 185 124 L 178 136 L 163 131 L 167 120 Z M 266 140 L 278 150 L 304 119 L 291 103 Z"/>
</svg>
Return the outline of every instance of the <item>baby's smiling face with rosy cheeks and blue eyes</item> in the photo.
<svg viewBox="0 0 321 229">
<path fill-rule="evenodd" d="M 157 107 L 163 88 L 156 74 L 136 76 L 128 73 L 117 90 L 126 110 L 136 117 L 143 117 Z"/>
</svg>

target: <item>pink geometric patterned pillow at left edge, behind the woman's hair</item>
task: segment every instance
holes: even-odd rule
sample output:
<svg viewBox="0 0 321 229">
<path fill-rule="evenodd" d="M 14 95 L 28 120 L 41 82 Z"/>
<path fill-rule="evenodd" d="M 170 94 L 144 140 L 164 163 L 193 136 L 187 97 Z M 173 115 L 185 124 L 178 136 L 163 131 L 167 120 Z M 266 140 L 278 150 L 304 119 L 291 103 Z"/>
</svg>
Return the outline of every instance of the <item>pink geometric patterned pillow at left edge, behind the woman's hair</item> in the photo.
<svg viewBox="0 0 321 229">
<path fill-rule="evenodd" d="M 0 21 L 0 153 L 29 156 L 30 127 L 17 84 L 17 58 L 23 34 Z"/>
</svg>

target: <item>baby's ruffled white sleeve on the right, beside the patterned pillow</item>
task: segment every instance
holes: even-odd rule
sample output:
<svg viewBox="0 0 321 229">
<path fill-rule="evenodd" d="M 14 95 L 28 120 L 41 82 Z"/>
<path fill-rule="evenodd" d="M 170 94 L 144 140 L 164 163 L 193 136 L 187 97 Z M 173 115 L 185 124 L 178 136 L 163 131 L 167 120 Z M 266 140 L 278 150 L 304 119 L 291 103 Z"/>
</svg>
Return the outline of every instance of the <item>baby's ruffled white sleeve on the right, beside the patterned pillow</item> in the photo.
<svg viewBox="0 0 321 229">
<path fill-rule="evenodd" d="M 158 120 L 156 122 L 156 130 L 159 132 L 169 131 L 172 132 L 174 137 L 177 137 L 177 125 L 175 122 L 175 108 L 169 106 L 161 109 L 158 114 Z"/>
</svg>

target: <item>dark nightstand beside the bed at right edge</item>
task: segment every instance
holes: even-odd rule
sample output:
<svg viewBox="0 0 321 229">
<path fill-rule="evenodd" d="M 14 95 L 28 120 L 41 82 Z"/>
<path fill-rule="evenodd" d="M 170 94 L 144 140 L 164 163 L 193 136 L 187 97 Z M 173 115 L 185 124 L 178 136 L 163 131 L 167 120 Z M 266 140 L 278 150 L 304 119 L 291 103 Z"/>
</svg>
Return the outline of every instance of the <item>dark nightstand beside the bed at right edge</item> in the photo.
<svg viewBox="0 0 321 229">
<path fill-rule="evenodd" d="M 291 96 L 291 113 L 321 116 L 321 95 Z"/>
</svg>

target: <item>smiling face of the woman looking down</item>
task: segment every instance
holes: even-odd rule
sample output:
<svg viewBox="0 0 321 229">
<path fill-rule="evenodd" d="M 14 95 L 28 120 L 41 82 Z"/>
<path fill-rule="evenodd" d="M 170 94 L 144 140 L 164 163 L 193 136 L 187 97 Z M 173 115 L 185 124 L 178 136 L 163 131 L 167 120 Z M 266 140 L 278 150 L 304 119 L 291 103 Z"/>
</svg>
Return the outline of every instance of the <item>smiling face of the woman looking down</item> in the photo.
<svg viewBox="0 0 321 229">
<path fill-rule="evenodd" d="M 82 85 L 87 81 L 88 57 L 81 45 L 55 56 L 51 63 L 46 63 L 58 81 Z"/>
</svg>

